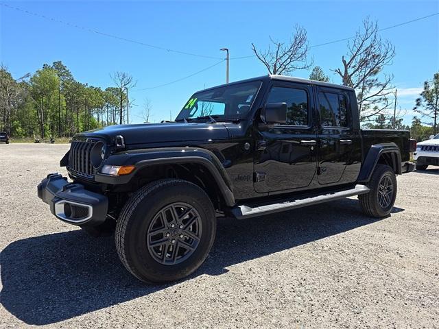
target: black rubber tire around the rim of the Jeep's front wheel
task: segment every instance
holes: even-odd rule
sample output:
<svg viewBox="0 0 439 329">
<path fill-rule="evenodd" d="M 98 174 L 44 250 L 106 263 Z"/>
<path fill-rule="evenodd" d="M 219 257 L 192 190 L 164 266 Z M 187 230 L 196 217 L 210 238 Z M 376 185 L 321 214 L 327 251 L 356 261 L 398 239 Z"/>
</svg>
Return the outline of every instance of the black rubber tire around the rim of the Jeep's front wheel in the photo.
<svg viewBox="0 0 439 329">
<path fill-rule="evenodd" d="M 182 263 L 163 265 L 150 253 L 146 236 L 156 214 L 175 202 L 189 204 L 200 215 L 200 241 Z M 185 180 L 165 179 L 143 186 L 126 202 L 117 220 L 115 243 L 121 262 L 133 276 L 143 282 L 164 283 L 198 269 L 209 254 L 215 233 L 215 210 L 202 188 Z"/>
</svg>

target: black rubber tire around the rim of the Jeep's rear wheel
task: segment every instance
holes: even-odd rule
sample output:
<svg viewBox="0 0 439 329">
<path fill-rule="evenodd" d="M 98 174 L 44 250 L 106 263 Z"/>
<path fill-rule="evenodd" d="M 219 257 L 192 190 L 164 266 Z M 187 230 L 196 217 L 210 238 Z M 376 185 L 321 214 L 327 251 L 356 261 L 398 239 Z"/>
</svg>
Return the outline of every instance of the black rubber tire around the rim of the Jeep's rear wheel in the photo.
<svg viewBox="0 0 439 329">
<path fill-rule="evenodd" d="M 393 187 L 393 194 L 390 198 L 390 204 L 384 208 L 379 203 L 379 186 L 383 178 L 390 178 Z M 372 178 L 368 184 L 370 192 L 359 195 L 359 204 L 366 215 L 375 218 L 383 218 L 392 211 L 397 191 L 396 175 L 391 167 L 386 164 L 377 164 L 375 171 L 372 173 Z"/>
</svg>

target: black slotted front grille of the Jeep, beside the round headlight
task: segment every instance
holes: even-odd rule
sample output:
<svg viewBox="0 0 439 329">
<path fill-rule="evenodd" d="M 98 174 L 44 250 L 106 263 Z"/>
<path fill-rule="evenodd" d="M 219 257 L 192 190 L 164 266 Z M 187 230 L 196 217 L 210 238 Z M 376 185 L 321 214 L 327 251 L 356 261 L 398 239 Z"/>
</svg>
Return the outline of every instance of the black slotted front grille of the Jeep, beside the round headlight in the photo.
<svg viewBox="0 0 439 329">
<path fill-rule="evenodd" d="M 91 164 L 91 149 L 97 140 L 90 138 L 73 139 L 69 154 L 69 169 L 76 175 L 93 178 L 93 164 Z"/>
</svg>

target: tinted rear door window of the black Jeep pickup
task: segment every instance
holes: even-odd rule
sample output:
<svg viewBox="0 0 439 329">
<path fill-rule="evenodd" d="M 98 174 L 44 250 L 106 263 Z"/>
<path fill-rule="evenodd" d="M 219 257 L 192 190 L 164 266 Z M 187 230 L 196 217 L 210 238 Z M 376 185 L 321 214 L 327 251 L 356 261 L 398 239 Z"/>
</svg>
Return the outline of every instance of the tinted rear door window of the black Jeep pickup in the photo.
<svg viewBox="0 0 439 329">
<path fill-rule="evenodd" d="M 322 127 L 348 126 L 348 102 L 345 95 L 320 92 L 318 98 Z"/>
</svg>

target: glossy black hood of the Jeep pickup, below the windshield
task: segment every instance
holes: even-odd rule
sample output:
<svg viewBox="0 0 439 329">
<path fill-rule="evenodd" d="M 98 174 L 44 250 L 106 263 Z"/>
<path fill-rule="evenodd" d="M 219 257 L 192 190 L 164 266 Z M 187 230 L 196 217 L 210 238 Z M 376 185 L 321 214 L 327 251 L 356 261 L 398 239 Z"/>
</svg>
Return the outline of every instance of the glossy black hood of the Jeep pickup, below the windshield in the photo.
<svg viewBox="0 0 439 329">
<path fill-rule="evenodd" d="M 228 138 L 222 123 L 145 123 L 140 125 L 110 125 L 76 136 L 101 137 L 108 142 L 123 136 L 126 145 L 186 141 L 217 141 Z"/>
</svg>

